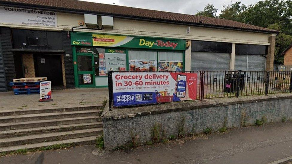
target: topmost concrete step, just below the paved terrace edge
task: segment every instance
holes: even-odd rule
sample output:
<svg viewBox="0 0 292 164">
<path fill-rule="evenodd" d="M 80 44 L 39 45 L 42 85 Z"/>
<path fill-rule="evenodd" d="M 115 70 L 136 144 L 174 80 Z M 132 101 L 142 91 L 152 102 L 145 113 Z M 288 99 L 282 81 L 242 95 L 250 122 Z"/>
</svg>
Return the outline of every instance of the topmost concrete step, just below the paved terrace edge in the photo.
<svg viewBox="0 0 292 164">
<path fill-rule="evenodd" d="M 72 112 L 72 111 L 86 111 L 86 110 L 101 110 L 102 105 L 80 105 L 79 107 L 68 107 L 68 108 L 58 108 L 51 107 L 45 109 L 12 109 L 12 110 L 4 110 L 0 111 L 1 116 L 16 116 L 16 115 L 24 115 L 24 114 L 40 114 L 40 113 L 56 113 L 56 112 Z"/>
</svg>

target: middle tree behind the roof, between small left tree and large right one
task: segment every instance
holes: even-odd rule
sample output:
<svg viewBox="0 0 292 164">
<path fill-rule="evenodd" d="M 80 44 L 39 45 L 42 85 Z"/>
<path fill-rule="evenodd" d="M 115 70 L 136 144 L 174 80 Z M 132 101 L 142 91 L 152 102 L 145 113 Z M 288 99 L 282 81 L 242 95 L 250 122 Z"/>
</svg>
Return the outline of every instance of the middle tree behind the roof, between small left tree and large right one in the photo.
<svg viewBox="0 0 292 164">
<path fill-rule="evenodd" d="M 245 10 L 247 10 L 247 7 L 246 5 L 241 4 L 241 2 L 223 5 L 223 10 L 221 10 L 219 18 L 242 22 L 242 12 Z"/>
</svg>

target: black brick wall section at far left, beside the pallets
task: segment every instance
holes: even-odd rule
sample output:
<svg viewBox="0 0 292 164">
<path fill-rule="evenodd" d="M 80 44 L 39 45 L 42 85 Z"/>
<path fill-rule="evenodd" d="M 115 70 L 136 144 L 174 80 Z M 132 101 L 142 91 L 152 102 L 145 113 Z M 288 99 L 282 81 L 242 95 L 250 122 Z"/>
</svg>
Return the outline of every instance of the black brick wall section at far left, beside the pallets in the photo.
<svg viewBox="0 0 292 164">
<path fill-rule="evenodd" d="M 9 82 L 12 82 L 16 78 L 15 67 L 14 67 L 14 57 L 11 51 L 11 30 L 7 27 L 0 28 L 0 38 L 1 38 L 1 51 L 4 61 L 4 71 L 6 78 L 6 87 L 9 88 Z"/>
</svg>

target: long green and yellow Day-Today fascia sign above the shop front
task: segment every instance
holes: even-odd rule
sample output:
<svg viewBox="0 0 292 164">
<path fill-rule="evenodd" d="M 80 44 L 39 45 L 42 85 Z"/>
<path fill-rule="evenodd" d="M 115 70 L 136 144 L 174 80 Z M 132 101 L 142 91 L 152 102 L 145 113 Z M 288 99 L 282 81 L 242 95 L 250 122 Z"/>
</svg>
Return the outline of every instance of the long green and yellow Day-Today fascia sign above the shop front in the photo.
<svg viewBox="0 0 292 164">
<path fill-rule="evenodd" d="M 72 45 L 185 50 L 184 40 L 71 33 Z"/>
</svg>

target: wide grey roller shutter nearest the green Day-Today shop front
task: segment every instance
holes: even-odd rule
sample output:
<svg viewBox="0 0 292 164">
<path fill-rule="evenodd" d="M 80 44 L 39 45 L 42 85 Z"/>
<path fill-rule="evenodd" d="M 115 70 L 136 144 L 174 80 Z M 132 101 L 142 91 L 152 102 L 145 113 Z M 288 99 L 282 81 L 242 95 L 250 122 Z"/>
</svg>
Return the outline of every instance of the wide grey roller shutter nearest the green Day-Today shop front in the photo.
<svg viewBox="0 0 292 164">
<path fill-rule="evenodd" d="M 230 53 L 191 52 L 191 70 L 229 70 Z"/>
</svg>

